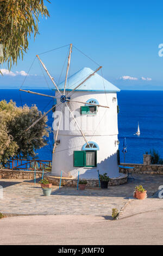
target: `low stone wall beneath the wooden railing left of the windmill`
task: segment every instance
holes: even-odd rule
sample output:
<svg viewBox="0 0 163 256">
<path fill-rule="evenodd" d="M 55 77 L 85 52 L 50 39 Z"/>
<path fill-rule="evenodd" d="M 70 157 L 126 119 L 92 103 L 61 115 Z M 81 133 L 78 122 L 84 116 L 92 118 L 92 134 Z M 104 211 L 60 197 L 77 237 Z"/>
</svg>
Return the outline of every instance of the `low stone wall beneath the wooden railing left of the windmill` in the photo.
<svg viewBox="0 0 163 256">
<path fill-rule="evenodd" d="M 36 172 L 36 178 L 41 178 L 42 172 Z M 34 179 L 35 172 L 31 170 L 0 169 L 0 179 Z"/>
</svg>

